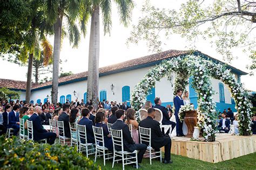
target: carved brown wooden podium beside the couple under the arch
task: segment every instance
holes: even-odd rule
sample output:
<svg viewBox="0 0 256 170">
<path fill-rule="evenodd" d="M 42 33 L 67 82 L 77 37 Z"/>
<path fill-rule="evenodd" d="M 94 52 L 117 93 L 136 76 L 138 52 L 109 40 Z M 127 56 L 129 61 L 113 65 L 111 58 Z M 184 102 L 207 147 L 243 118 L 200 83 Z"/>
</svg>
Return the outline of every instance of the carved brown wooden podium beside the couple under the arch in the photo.
<svg viewBox="0 0 256 170">
<path fill-rule="evenodd" d="M 197 126 L 197 111 L 186 111 L 184 122 L 187 125 L 187 134 L 185 137 L 193 137 L 194 126 Z"/>
</svg>

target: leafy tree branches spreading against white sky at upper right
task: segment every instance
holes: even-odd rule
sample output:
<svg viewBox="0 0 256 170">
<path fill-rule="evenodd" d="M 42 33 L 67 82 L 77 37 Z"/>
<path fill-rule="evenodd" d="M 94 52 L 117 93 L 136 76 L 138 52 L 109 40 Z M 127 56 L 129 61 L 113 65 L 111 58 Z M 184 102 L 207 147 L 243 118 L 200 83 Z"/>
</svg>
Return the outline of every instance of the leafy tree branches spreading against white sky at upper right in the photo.
<svg viewBox="0 0 256 170">
<path fill-rule="evenodd" d="M 187 0 L 180 9 L 159 9 L 146 1 L 143 17 L 133 27 L 127 42 L 145 40 L 150 51 L 161 51 L 163 39 L 180 34 L 192 49 L 196 42 L 208 40 L 215 50 L 228 61 L 234 58 L 232 51 L 240 47 L 250 53 L 256 68 L 256 12 L 255 1 L 194 1 Z M 190 44 L 190 45 L 189 45 Z"/>
</svg>

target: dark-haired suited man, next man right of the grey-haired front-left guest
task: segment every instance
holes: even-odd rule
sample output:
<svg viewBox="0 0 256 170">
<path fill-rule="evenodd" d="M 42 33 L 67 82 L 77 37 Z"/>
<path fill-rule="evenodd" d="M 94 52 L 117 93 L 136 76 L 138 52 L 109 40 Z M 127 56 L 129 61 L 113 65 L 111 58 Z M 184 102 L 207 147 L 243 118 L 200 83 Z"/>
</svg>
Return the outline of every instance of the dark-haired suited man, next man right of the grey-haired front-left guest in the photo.
<svg viewBox="0 0 256 170">
<path fill-rule="evenodd" d="M 58 117 L 58 121 L 63 121 L 64 124 L 64 132 L 65 132 L 65 137 L 70 138 L 71 134 L 70 134 L 70 127 L 69 127 L 69 111 L 70 111 L 70 105 L 65 103 L 63 104 L 63 112 L 61 115 L 59 115 Z M 60 136 L 63 134 L 59 134 Z"/>
</svg>

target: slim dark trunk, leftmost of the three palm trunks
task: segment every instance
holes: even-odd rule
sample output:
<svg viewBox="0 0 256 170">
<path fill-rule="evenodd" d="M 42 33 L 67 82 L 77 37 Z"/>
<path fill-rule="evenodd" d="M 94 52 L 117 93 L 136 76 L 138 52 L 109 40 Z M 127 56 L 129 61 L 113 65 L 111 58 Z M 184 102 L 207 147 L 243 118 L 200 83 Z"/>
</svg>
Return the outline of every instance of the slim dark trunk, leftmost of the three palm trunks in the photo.
<svg viewBox="0 0 256 170">
<path fill-rule="evenodd" d="M 26 78 L 26 102 L 30 102 L 31 96 L 31 78 L 32 78 L 33 54 L 29 54 L 28 75 Z"/>
</svg>

